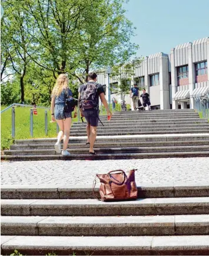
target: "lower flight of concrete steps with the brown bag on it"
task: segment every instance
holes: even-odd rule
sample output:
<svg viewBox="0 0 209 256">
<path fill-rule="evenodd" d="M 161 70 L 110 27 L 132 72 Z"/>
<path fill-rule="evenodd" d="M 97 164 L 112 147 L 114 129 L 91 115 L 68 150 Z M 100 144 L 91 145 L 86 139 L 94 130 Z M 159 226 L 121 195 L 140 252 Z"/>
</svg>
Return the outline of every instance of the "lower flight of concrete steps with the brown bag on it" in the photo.
<svg viewBox="0 0 209 256">
<path fill-rule="evenodd" d="M 141 185 L 138 197 L 105 203 L 87 186 L 2 186 L 1 254 L 209 254 L 208 184 Z"/>
</svg>

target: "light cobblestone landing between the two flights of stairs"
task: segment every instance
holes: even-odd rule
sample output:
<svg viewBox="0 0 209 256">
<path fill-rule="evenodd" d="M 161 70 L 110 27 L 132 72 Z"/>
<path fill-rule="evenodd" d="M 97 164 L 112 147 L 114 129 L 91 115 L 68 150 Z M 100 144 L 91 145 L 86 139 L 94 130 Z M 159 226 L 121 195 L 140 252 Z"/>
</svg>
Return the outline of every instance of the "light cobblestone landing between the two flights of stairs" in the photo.
<svg viewBox="0 0 209 256">
<path fill-rule="evenodd" d="M 140 183 L 209 183 L 209 158 L 157 158 L 137 160 L 51 160 L 1 163 L 1 184 L 89 184 L 96 173 L 138 168 Z"/>
</svg>

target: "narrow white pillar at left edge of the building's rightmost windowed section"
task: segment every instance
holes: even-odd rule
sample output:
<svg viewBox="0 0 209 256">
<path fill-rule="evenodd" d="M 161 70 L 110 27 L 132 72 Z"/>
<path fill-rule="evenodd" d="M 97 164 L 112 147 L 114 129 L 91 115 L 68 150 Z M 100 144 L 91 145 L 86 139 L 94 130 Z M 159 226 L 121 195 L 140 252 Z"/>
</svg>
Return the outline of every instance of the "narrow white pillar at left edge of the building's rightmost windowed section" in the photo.
<svg viewBox="0 0 209 256">
<path fill-rule="evenodd" d="M 172 98 L 177 92 L 177 70 L 175 68 L 175 48 L 171 49 L 171 84 L 172 84 Z M 178 109 L 178 102 L 172 99 L 172 109 Z"/>
</svg>

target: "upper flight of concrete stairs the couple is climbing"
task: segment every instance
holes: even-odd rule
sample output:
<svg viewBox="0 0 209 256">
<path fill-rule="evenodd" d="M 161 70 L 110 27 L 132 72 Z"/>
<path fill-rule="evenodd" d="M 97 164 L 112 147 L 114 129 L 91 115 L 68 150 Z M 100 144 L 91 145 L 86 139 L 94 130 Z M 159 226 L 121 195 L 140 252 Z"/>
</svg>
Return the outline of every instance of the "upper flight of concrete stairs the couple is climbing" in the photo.
<svg viewBox="0 0 209 256">
<path fill-rule="evenodd" d="M 56 139 L 16 140 L 3 160 L 119 159 L 209 156 L 209 124 L 193 109 L 115 112 L 111 121 L 101 116 L 95 143 L 88 154 L 85 123 L 74 123 L 70 157 L 54 150 Z"/>
</svg>

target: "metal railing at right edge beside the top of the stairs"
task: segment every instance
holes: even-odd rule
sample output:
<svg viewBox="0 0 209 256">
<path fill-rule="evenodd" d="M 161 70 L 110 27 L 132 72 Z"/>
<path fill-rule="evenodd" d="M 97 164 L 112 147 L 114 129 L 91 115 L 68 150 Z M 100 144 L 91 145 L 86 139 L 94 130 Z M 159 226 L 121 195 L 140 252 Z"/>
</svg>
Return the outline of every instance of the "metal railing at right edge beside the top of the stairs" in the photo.
<svg viewBox="0 0 209 256">
<path fill-rule="evenodd" d="M 209 93 L 203 97 L 196 95 L 194 99 L 195 109 L 197 109 L 199 113 L 203 114 L 203 118 L 209 119 Z"/>
</svg>

